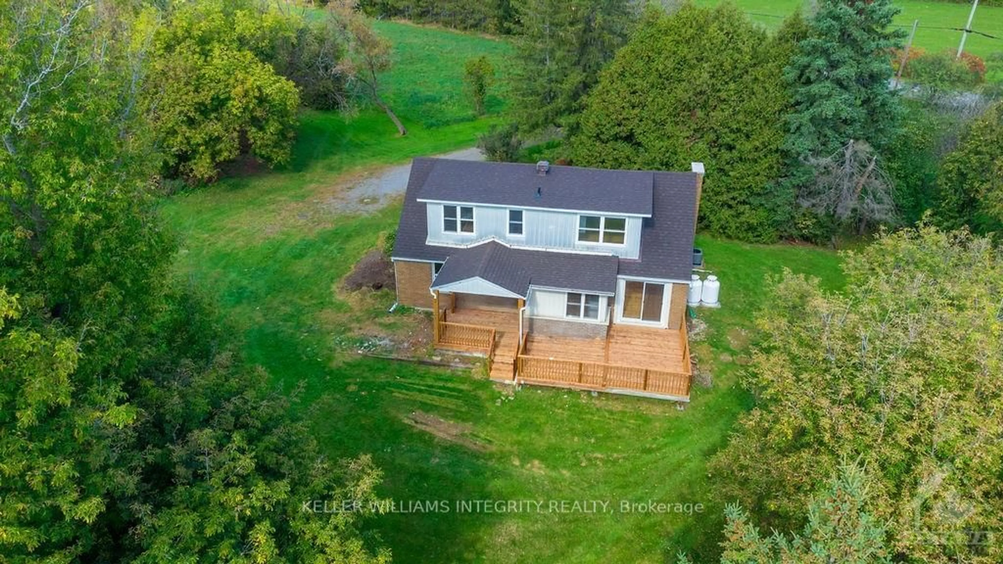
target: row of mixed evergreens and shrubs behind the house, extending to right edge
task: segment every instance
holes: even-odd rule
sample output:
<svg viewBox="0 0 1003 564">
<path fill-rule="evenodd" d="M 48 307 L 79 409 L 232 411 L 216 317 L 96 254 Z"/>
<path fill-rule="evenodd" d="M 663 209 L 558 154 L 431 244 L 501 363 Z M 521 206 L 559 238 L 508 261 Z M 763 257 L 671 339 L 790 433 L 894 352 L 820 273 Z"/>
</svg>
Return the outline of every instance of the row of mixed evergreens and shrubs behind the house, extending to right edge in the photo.
<svg viewBox="0 0 1003 564">
<path fill-rule="evenodd" d="M 557 129 L 550 153 L 574 165 L 702 161 L 701 228 L 744 241 L 834 244 L 927 214 L 946 229 L 1003 225 L 984 63 L 922 54 L 908 89 L 894 87 L 904 33 L 888 0 L 819 2 L 774 33 L 727 3 L 515 7 L 514 124 L 482 137 L 492 159 Z"/>
</svg>

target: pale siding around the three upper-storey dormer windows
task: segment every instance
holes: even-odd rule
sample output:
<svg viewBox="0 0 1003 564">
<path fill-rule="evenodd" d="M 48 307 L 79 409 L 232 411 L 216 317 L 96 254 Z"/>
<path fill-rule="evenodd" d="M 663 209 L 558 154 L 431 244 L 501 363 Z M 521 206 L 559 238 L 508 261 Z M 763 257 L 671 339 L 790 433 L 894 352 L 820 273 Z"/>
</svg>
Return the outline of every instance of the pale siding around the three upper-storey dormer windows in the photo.
<svg viewBox="0 0 1003 564">
<path fill-rule="evenodd" d="M 550 210 L 522 210 L 523 235 L 510 235 L 510 208 L 474 206 L 475 233 L 448 233 L 442 231 L 441 204 L 427 204 L 428 238 L 430 245 L 470 245 L 495 238 L 520 247 L 537 247 L 552 251 L 590 251 L 612 253 L 626 259 L 640 256 L 641 223 L 643 218 L 624 218 L 624 244 L 603 244 L 579 241 L 579 216 L 574 212 Z M 457 211 L 458 214 L 458 211 Z"/>
</svg>

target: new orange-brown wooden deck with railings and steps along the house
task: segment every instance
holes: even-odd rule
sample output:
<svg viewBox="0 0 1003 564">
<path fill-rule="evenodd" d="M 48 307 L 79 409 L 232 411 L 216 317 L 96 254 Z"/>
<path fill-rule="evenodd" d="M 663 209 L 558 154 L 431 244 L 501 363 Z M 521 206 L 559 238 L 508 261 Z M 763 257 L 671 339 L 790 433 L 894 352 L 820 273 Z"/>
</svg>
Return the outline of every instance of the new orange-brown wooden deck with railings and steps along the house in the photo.
<svg viewBox="0 0 1003 564">
<path fill-rule="evenodd" d="M 614 324 L 605 339 L 533 333 L 520 351 L 517 310 L 442 310 L 440 321 L 436 346 L 484 354 L 493 380 L 689 400 L 685 327 Z"/>
</svg>

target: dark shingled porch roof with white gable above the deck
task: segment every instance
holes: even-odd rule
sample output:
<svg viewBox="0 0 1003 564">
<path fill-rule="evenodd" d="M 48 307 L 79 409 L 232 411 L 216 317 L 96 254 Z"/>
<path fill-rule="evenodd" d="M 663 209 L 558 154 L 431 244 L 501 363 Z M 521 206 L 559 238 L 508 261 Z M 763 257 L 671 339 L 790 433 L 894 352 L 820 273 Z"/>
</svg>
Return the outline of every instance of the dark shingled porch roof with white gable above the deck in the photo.
<svg viewBox="0 0 1003 564">
<path fill-rule="evenodd" d="M 449 255 L 431 289 L 527 298 L 530 286 L 613 294 L 618 259 L 614 256 L 513 249 L 488 241 Z M 461 288 L 465 288 L 461 289 Z"/>
</svg>

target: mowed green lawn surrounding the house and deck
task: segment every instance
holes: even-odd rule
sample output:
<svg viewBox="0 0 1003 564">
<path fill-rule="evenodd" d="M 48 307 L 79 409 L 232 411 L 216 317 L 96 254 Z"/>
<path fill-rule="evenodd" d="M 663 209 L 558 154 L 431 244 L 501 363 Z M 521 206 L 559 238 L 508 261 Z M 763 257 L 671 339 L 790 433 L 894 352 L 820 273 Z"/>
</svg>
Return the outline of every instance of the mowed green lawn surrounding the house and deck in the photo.
<svg viewBox="0 0 1003 564">
<path fill-rule="evenodd" d="M 240 331 L 248 359 L 276 385 L 305 385 L 297 405 L 332 458 L 370 454 L 379 492 L 407 507 L 442 501 L 448 513 L 391 513 L 369 526 L 396 562 L 664 562 L 677 550 L 708 561 L 723 522 L 708 458 L 750 406 L 738 373 L 755 339 L 765 278 L 784 267 L 843 285 L 840 259 L 802 246 L 753 246 L 699 237 L 722 281 L 719 310 L 693 343 L 710 387 L 683 409 L 635 397 L 527 387 L 512 393 L 468 370 L 360 357 L 360 330 L 400 327 L 388 291 L 346 294 L 339 280 L 391 232 L 400 205 L 368 215 L 332 212 L 326 199 L 355 179 L 416 155 L 472 146 L 499 121 L 474 119 L 461 94 L 462 62 L 487 54 L 506 72 L 497 40 L 407 24 L 378 23 L 394 42 L 388 99 L 410 128 L 397 137 L 384 115 L 346 118 L 307 111 L 293 163 L 165 199 L 161 212 L 182 238 L 178 275 L 211 292 Z M 504 79 L 504 78 L 503 78 Z M 406 327 L 405 327 L 406 328 Z M 411 421 L 440 421 L 436 434 Z M 545 511 L 455 511 L 463 500 L 532 500 Z M 551 512 L 551 502 L 585 502 Z M 621 504 L 703 504 L 690 513 L 621 512 Z M 591 513 L 607 503 L 610 512 Z M 523 506 L 526 507 L 526 506 Z M 637 506 L 640 508 L 641 506 Z M 692 506 L 691 506 L 692 507 Z"/>
</svg>

